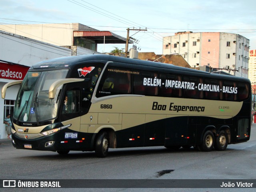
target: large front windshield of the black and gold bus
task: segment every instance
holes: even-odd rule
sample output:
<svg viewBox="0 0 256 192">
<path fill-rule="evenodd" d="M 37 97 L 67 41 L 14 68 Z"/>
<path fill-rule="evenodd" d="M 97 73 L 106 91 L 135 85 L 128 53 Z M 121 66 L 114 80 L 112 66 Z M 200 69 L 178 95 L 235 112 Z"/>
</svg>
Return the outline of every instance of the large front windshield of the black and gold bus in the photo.
<svg viewBox="0 0 256 192">
<path fill-rule="evenodd" d="M 49 99 L 49 88 L 56 80 L 66 78 L 67 73 L 68 69 L 28 72 L 18 93 L 14 118 L 37 123 L 55 118 L 62 86 L 54 99 Z"/>
</svg>

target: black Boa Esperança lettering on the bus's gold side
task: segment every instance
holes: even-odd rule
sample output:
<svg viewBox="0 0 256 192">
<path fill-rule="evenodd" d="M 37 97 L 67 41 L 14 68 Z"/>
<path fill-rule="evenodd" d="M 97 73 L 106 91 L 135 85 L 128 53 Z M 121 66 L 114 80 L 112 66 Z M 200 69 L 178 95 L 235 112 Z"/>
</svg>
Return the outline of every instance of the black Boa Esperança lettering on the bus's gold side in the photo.
<svg viewBox="0 0 256 192">
<path fill-rule="evenodd" d="M 158 102 L 153 102 L 152 110 L 166 110 L 167 105 L 158 104 Z M 204 112 L 204 106 L 185 106 L 185 105 L 175 105 L 174 103 L 170 103 L 169 111 L 196 111 L 196 112 Z"/>
</svg>

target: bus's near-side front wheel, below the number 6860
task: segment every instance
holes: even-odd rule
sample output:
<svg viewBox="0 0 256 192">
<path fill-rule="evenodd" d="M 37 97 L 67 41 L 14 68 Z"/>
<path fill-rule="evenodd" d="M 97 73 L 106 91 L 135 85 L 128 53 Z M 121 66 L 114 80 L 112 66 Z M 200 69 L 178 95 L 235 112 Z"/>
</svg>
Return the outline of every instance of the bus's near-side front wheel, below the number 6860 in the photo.
<svg viewBox="0 0 256 192">
<path fill-rule="evenodd" d="M 98 157 L 106 157 L 108 155 L 109 138 L 107 132 L 99 133 L 95 143 L 95 153 Z"/>
</svg>

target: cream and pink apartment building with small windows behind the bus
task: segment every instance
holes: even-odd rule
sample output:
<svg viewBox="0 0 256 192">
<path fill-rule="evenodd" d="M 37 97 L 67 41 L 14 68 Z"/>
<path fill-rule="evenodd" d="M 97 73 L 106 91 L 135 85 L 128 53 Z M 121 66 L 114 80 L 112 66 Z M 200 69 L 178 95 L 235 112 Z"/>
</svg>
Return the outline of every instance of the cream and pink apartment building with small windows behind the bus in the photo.
<svg viewBox="0 0 256 192">
<path fill-rule="evenodd" d="M 178 53 L 192 68 L 210 66 L 248 78 L 250 40 L 223 32 L 178 32 L 163 38 L 163 54 Z"/>
</svg>

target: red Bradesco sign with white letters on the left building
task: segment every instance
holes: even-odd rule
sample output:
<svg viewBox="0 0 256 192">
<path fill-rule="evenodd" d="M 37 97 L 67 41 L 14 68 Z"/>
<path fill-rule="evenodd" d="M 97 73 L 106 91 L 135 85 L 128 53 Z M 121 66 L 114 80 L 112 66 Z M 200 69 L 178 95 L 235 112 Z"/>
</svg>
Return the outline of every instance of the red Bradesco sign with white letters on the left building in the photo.
<svg viewBox="0 0 256 192">
<path fill-rule="evenodd" d="M 0 78 L 23 80 L 29 67 L 0 62 Z"/>
</svg>

